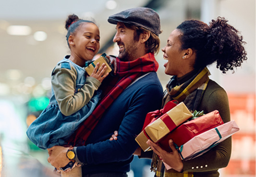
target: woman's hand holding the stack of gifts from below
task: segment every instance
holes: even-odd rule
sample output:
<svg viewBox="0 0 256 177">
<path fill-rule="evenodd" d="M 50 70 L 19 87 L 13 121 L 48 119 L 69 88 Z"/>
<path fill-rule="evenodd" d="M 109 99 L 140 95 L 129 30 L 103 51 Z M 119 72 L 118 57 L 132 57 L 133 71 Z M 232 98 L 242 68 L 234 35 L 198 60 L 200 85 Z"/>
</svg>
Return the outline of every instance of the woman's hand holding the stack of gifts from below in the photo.
<svg viewBox="0 0 256 177">
<path fill-rule="evenodd" d="M 162 159 L 164 163 L 170 165 L 174 170 L 178 172 L 181 172 L 183 170 L 183 162 L 172 140 L 169 140 L 169 145 L 172 150 L 171 153 L 166 152 L 151 140 L 148 140 L 146 143 L 150 146 L 154 153 L 158 154 L 158 156 Z"/>
</svg>

